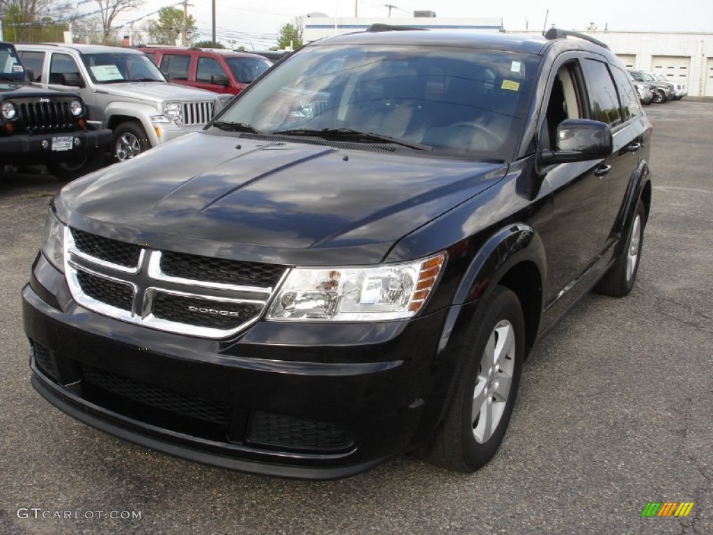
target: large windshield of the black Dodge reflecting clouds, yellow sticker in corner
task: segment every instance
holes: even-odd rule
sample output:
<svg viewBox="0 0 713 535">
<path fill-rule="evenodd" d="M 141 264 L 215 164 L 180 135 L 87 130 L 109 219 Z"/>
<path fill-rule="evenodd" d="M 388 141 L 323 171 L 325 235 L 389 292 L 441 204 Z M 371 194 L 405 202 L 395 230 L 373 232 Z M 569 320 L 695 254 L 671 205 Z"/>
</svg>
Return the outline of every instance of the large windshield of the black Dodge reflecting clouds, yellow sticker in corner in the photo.
<svg viewBox="0 0 713 535">
<path fill-rule="evenodd" d="M 538 61 L 446 46 L 310 46 L 220 121 L 260 133 L 349 129 L 504 161 L 523 128 Z"/>
</svg>

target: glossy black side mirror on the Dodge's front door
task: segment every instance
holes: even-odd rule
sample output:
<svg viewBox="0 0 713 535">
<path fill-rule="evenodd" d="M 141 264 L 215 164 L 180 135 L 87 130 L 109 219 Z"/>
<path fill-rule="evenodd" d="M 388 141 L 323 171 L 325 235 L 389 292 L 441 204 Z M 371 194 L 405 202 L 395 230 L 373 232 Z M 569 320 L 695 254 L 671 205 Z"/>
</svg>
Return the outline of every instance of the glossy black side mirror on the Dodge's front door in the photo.
<svg viewBox="0 0 713 535">
<path fill-rule="evenodd" d="M 557 127 L 555 150 L 540 153 L 540 164 L 583 162 L 610 156 L 614 150 L 609 125 L 588 119 L 566 119 Z"/>
</svg>

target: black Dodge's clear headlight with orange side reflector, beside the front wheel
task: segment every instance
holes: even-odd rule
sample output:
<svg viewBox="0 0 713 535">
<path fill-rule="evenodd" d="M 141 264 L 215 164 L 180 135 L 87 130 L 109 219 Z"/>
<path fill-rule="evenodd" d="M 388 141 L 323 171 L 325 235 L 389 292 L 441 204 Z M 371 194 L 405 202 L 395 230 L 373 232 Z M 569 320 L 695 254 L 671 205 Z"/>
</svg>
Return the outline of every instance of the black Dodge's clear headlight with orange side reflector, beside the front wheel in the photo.
<svg viewBox="0 0 713 535">
<path fill-rule="evenodd" d="M 376 321 L 411 317 L 436 285 L 446 254 L 379 267 L 297 267 L 268 320 Z"/>
</svg>

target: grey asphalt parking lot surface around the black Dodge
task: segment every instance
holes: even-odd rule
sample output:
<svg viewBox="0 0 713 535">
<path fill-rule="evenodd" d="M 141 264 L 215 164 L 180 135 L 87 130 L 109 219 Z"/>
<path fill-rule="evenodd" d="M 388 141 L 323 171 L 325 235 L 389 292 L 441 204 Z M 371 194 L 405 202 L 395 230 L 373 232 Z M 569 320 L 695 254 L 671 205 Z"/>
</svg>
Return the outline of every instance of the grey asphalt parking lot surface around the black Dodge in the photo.
<svg viewBox="0 0 713 535">
<path fill-rule="evenodd" d="M 403 456 L 340 481 L 256 477 L 54 409 L 29 384 L 20 290 L 61 183 L 6 175 L 0 534 L 712 534 L 713 103 L 646 110 L 654 195 L 637 286 L 585 297 L 538 346 L 501 451 L 467 476 Z M 652 501 L 694 506 L 642 518 Z"/>
</svg>

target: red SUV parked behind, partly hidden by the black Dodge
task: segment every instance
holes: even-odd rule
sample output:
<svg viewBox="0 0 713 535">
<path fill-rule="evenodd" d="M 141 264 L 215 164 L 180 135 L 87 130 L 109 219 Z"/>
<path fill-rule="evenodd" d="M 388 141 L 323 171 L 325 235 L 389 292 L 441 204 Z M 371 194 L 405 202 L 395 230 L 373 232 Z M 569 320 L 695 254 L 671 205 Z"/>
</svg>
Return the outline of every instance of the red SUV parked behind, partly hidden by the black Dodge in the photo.
<svg viewBox="0 0 713 535">
<path fill-rule="evenodd" d="M 237 95 L 272 65 L 257 54 L 220 49 L 140 48 L 172 82 Z"/>
</svg>

